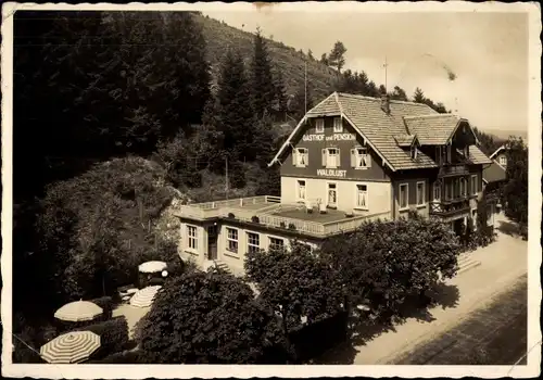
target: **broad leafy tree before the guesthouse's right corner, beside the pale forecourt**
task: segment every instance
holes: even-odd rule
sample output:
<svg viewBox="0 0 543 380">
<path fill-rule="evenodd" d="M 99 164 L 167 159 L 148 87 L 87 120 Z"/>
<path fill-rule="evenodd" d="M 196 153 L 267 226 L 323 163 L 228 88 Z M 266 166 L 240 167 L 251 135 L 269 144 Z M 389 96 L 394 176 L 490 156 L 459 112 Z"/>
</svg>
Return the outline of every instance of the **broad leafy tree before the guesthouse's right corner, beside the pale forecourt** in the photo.
<svg viewBox="0 0 543 380">
<path fill-rule="evenodd" d="M 421 295 L 457 270 L 457 238 L 438 220 L 367 223 L 330 238 L 320 255 L 340 277 L 348 305 L 365 305 L 383 318 L 397 315 L 405 300 Z"/>
</svg>

